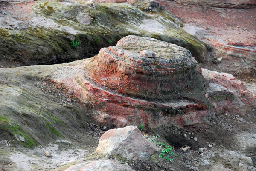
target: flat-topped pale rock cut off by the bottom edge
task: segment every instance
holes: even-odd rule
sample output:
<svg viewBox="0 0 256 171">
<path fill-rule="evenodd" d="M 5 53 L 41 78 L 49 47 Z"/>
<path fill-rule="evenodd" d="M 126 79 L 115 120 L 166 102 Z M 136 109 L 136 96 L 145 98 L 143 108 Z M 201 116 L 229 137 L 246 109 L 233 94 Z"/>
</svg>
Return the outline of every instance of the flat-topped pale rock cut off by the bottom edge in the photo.
<svg viewBox="0 0 256 171">
<path fill-rule="evenodd" d="M 117 160 L 101 159 L 72 165 L 65 171 L 134 171 L 129 165 L 121 165 Z"/>
</svg>

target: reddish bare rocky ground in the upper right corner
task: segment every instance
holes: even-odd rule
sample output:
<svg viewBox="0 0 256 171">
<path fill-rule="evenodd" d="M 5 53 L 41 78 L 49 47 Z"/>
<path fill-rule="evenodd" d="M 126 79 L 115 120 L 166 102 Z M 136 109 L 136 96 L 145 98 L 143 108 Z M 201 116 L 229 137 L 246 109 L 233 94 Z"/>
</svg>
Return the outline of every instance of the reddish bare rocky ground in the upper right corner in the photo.
<svg viewBox="0 0 256 171">
<path fill-rule="evenodd" d="M 190 34 L 215 48 L 202 64 L 203 68 L 227 72 L 255 83 L 255 2 L 201 1 L 198 6 L 198 1 L 170 0 L 160 1 L 160 4 L 186 22 L 185 29 Z"/>
</svg>

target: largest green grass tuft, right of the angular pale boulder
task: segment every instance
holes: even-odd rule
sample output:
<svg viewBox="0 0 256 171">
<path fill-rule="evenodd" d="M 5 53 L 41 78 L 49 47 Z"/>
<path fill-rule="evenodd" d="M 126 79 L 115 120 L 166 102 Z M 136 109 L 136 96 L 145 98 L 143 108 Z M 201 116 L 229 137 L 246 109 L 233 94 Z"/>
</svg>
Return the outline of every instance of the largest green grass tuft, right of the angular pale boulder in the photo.
<svg viewBox="0 0 256 171">
<path fill-rule="evenodd" d="M 162 157 L 170 162 L 174 160 L 173 157 L 178 157 L 178 155 L 174 152 L 173 147 L 165 145 L 162 140 L 157 141 L 157 136 L 148 136 L 147 139 L 153 142 L 154 145 L 157 147 L 159 157 Z"/>
</svg>

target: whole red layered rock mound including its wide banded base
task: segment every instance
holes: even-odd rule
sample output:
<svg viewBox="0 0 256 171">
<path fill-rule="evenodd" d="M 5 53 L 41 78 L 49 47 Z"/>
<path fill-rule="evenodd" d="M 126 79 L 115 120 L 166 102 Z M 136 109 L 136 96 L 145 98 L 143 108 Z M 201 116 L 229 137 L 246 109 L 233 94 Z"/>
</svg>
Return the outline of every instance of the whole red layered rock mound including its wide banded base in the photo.
<svg viewBox="0 0 256 171">
<path fill-rule="evenodd" d="M 228 103 L 228 110 L 241 112 L 254 103 L 231 75 L 224 85 L 221 80 L 226 75 L 201 73 L 186 49 L 148 37 L 124 37 L 116 46 L 102 48 L 99 55 L 61 72 L 53 80 L 93 105 L 97 124 L 108 128 L 144 125 L 170 136 L 171 127 L 177 134 L 177 128 L 202 123 L 214 111 L 223 110 L 224 105 L 217 108 L 219 104 Z M 211 78 L 214 74 L 218 77 Z M 238 89 L 246 95 L 236 93 Z"/>
</svg>

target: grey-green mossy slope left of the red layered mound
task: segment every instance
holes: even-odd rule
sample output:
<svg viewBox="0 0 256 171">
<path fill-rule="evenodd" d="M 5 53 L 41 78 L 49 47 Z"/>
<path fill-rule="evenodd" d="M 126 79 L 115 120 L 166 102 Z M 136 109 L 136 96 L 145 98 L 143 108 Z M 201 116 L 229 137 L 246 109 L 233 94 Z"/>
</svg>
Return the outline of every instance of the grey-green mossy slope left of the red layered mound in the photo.
<svg viewBox="0 0 256 171">
<path fill-rule="evenodd" d="M 44 66 L 42 71 L 49 68 L 52 67 Z M 70 133 L 74 128 L 78 134 L 87 126 L 90 117 L 82 108 L 60 105 L 57 98 L 35 86 L 39 80 L 26 73 L 25 68 L 0 69 L 0 73 L 1 140 L 34 148 L 56 139 L 73 138 Z"/>
</svg>

